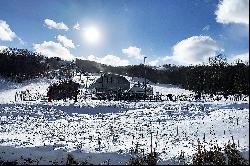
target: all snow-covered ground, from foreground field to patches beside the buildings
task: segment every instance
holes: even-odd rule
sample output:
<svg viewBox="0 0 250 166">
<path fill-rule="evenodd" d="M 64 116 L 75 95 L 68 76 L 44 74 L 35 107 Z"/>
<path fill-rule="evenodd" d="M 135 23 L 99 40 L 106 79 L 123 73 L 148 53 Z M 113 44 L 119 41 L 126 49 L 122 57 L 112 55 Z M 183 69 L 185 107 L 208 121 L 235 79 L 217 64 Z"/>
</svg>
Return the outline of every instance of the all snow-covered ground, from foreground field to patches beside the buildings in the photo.
<svg viewBox="0 0 250 166">
<path fill-rule="evenodd" d="M 94 79 L 88 79 L 88 84 Z M 153 149 L 160 153 L 159 164 L 179 164 L 177 157 L 181 151 L 189 161 L 198 139 L 207 148 L 210 144 L 223 146 L 233 139 L 248 156 L 248 99 L 237 102 L 15 101 L 17 91 L 29 89 L 44 95 L 55 81 L 37 79 L 14 84 L 0 79 L 0 160 L 65 164 L 67 154 L 71 154 L 77 161 L 92 164 L 125 164 L 136 146 L 150 152 L 151 133 Z M 163 95 L 192 94 L 174 85 L 152 86 L 154 92 Z"/>
</svg>

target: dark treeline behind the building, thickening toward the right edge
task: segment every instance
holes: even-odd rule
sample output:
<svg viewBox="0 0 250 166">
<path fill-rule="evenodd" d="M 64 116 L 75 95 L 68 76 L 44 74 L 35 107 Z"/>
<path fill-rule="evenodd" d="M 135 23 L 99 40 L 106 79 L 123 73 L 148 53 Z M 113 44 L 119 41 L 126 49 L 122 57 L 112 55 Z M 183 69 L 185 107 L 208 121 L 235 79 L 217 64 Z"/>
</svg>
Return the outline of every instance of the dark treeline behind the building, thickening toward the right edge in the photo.
<svg viewBox="0 0 250 166">
<path fill-rule="evenodd" d="M 86 60 L 78 60 L 76 65 L 80 68 L 84 66 L 85 72 L 103 71 L 130 77 L 144 77 L 146 68 L 146 78 L 154 83 L 179 85 L 197 93 L 249 94 L 249 64 L 240 61 L 236 64 L 229 64 L 222 54 L 210 58 L 207 65 L 165 64 L 161 70 L 143 64 L 113 67 Z"/>
</svg>

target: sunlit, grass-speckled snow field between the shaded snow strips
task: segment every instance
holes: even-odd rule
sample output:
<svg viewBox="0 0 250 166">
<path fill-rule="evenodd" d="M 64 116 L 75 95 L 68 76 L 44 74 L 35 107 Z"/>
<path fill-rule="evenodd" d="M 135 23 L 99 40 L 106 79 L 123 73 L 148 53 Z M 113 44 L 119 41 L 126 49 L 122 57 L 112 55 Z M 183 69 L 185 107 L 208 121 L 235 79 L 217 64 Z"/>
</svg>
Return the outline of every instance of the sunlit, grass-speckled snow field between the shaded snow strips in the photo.
<svg viewBox="0 0 250 166">
<path fill-rule="evenodd" d="M 224 105 L 211 104 L 203 105 L 201 110 L 200 103 L 164 102 L 156 108 L 139 106 L 120 112 L 100 113 L 99 110 L 96 114 L 79 114 L 46 105 L 6 105 L 0 112 L 0 143 L 1 146 L 53 146 L 54 150 L 129 154 L 136 144 L 150 152 L 152 132 L 153 148 L 160 152 L 162 160 L 174 158 L 181 151 L 192 155 L 198 138 L 209 147 L 209 143 L 223 146 L 233 136 L 235 142 L 239 140 L 240 149 L 248 150 L 249 109 L 247 104 L 241 106 L 239 110 L 214 109 Z"/>
</svg>

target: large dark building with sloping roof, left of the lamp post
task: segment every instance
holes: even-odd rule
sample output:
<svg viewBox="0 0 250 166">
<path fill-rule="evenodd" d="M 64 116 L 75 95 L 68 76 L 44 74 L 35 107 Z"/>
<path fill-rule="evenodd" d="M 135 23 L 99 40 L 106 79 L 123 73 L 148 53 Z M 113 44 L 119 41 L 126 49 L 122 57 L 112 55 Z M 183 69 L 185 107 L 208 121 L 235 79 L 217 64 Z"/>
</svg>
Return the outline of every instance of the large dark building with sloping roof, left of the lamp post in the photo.
<svg viewBox="0 0 250 166">
<path fill-rule="evenodd" d="M 89 86 L 89 89 L 94 89 L 96 92 L 125 91 L 129 88 L 130 82 L 125 77 L 116 74 L 102 74 Z"/>
</svg>

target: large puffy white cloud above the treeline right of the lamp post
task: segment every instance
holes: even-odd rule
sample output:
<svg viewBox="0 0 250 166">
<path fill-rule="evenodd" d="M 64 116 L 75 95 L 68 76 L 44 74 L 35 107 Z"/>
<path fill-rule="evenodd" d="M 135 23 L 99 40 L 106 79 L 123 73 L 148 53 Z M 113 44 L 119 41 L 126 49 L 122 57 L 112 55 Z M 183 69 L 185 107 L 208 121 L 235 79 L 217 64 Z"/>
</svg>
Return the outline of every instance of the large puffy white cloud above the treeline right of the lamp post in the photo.
<svg viewBox="0 0 250 166">
<path fill-rule="evenodd" d="M 164 60 L 179 65 L 196 65 L 207 62 L 218 51 L 222 49 L 211 37 L 192 36 L 174 45 L 173 55 L 166 56 Z"/>
</svg>

